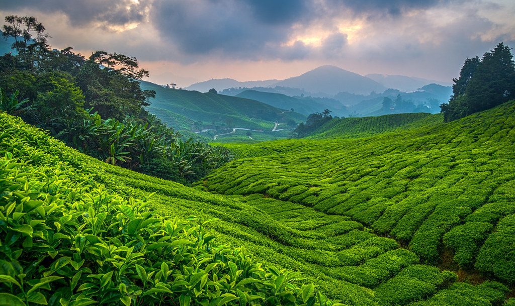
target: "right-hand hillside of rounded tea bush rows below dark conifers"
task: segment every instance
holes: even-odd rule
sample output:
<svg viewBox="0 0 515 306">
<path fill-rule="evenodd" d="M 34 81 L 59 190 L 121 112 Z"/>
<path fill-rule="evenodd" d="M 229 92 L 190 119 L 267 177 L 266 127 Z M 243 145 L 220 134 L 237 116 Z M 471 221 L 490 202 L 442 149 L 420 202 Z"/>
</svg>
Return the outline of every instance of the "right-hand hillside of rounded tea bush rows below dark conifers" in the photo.
<svg viewBox="0 0 515 306">
<path fill-rule="evenodd" d="M 450 123 L 437 118 L 369 137 L 364 128 L 334 140 L 228 145 L 240 159 L 203 185 L 358 222 L 424 263 L 512 286 L 515 101 Z"/>
</svg>

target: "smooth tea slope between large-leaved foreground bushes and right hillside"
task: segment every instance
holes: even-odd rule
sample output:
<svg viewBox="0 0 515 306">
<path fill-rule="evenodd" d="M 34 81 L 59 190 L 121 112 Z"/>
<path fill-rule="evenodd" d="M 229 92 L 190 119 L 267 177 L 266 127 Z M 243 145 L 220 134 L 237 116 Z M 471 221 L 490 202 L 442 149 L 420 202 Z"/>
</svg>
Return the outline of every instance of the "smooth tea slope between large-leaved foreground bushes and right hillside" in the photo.
<svg viewBox="0 0 515 306">
<path fill-rule="evenodd" d="M 79 170 L 96 184 L 103 184 L 122 196 L 142 198 L 156 192 L 153 205 L 161 215 L 171 219 L 191 214 L 219 218 L 211 225 L 219 242 L 243 245 L 263 262 L 302 271 L 307 282 L 315 282 L 320 290 L 348 304 L 376 305 L 388 301 L 406 304 L 428 298 L 424 304 L 454 305 L 465 301 L 491 305 L 504 299 L 505 288 L 499 284 L 451 284 L 452 274 L 417 265 L 419 258 L 412 251 L 400 248 L 392 239 L 377 237 L 350 217 L 328 215 L 312 207 L 265 199 L 259 194 L 215 195 L 110 166 L 66 148 L 5 114 L 0 114 L 0 127 L 2 131 L 16 127 L 19 145 L 9 147 L 6 142 L 0 143 L 0 149 L 14 157 L 20 149 L 31 148 L 29 151 L 35 153 L 30 160 L 22 161 L 52 160 L 60 165 L 62 173 L 66 169 Z M 39 149 L 45 147 L 52 151 Z M 277 167 L 285 170 L 280 164 Z M 236 185 L 242 182 L 234 178 L 231 182 Z"/>
</svg>

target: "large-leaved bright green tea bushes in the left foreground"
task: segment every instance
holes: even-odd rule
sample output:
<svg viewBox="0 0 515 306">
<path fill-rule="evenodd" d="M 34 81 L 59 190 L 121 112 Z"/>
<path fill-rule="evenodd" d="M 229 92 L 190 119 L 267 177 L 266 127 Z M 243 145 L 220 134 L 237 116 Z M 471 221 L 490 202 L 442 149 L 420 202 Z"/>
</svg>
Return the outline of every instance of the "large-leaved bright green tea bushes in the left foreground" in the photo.
<svg viewBox="0 0 515 306">
<path fill-rule="evenodd" d="M 298 286 L 299 273 L 216 244 L 213 220 L 162 218 L 145 195 L 117 194 L 95 166 L 66 161 L 85 157 L 0 116 L 2 304 L 338 305 Z"/>
</svg>

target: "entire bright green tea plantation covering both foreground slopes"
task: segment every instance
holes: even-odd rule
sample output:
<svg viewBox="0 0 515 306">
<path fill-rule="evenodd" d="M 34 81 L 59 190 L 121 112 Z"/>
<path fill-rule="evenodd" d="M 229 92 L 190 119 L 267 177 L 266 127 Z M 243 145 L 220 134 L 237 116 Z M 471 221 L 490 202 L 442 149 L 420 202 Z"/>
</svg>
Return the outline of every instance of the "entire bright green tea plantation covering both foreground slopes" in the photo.
<svg viewBox="0 0 515 306">
<path fill-rule="evenodd" d="M 196 188 L 2 113 L 0 304 L 512 303 L 514 112 L 228 145 Z"/>
</svg>

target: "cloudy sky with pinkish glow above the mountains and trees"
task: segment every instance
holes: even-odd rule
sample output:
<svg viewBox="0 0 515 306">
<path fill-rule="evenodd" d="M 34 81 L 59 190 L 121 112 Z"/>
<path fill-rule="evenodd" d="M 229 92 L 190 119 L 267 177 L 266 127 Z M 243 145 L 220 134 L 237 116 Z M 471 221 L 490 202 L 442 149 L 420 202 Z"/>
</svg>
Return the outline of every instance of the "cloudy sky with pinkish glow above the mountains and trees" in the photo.
<svg viewBox="0 0 515 306">
<path fill-rule="evenodd" d="M 0 0 L 53 48 L 136 57 L 149 81 L 285 79 L 321 65 L 451 82 L 465 59 L 515 47 L 513 0 Z"/>
</svg>

